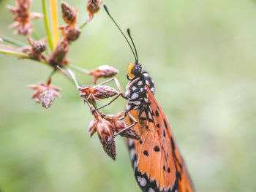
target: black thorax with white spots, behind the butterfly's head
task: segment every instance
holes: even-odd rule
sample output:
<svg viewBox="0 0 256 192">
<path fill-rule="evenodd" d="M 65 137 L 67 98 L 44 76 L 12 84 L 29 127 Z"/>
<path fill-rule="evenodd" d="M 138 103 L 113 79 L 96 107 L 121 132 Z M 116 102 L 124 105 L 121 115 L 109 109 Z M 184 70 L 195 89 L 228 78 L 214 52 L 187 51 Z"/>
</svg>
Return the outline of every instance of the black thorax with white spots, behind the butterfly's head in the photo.
<svg viewBox="0 0 256 192">
<path fill-rule="evenodd" d="M 148 107 L 147 88 L 154 94 L 154 81 L 148 77 L 147 72 L 141 72 L 138 77 L 135 77 L 127 84 L 127 92 L 125 93 L 128 99 L 126 111 L 130 110 L 145 110 Z"/>
</svg>

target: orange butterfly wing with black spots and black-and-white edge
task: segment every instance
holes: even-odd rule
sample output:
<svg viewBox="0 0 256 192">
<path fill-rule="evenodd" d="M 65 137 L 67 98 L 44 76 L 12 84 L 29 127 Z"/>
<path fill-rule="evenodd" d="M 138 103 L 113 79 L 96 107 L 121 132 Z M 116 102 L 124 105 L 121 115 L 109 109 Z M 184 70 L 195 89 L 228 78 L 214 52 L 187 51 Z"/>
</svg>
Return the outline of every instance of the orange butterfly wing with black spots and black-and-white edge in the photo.
<svg viewBox="0 0 256 192">
<path fill-rule="evenodd" d="M 149 89 L 147 96 L 150 103 L 148 118 L 145 113 L 139 115 L 137 110 L 130 112 L 138 120 L 134 129 L 141 137 L 140 141 L 128 139 L 136 180 L 146 192 L 192 192 L 192 182 L 169 121 Z M 133 123 L 128 116 L 126 120 L 128 124 Z"/>
</svg>

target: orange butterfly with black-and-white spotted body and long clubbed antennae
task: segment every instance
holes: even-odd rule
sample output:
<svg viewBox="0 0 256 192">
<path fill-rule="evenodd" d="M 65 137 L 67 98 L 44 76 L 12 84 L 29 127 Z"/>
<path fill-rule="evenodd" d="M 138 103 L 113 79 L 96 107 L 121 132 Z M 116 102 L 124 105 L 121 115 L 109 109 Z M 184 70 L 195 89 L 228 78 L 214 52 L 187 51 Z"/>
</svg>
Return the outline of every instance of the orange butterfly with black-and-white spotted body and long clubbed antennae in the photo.
<svg viewBox="0 0 256 192">
<path fill-rule="evenodd" d="M 113 20 L 107 7 L 104 8 Z M 113 22 L 116 24 L 115 20 Z M 135 63 L 130 63 L 127 70 L 129 82 L 123 95 L 127 99 L 124 116 L 129 127 L 132 126 L 140 135 L 140 140 L 127 139 L 135 178 L 145 192 L 192 192 L 192 181 L 170 123 L 154 97 L 154 81 L 138 63 L 138 53 L 129 29 L 127 32 L 134 50 L 121 31 L 135 56 Z"/>
</svg>

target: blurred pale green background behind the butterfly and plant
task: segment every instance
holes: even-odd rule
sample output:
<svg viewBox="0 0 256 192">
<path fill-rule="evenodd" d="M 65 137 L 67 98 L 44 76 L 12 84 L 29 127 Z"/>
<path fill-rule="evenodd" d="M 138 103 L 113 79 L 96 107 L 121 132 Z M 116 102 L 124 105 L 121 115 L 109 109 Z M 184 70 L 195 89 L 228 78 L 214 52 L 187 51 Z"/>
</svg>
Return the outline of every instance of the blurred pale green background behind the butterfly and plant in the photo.
<svg viewBox="0 0 256 192">
<path fill-rule="evenodd" d="M 80 25 L 87 18 L 86 1 L 67 2 L 78 7 Z M 26 42 L 7 28 L 12 23 L 7 4 L 14 1 L 0 1 L 0 34 Z M 256 191 L 255 1 L 103 4 L 121 28 L 132 29 L 140 63 L 156 82 L 155 96 L 197 191 Z M 42 12 L 41 1 L 34 1 L 31 10 Z M 34 21 L 34 28 L 45 37 L 42 19 Z M 103 9 L 83 28 L 68 58 L 85 69 L 116 67 L 123 88 L 134 61 Z M 56 74 L 53 84 L 62 88 L 62 98 L 45 110 L 29 99 L 32 91 L 25 85 L 45 80 L 51 69 L 7 55 L 0 55 L 0 64 L 0 191 L 140 191 L 124 140 L 117 138 L 114 162 L 96 135 L 89 138 L 92 116 L 72 83 Z M 78 79 L 92 83 L 85 75 Z M 114 114 L 124 104 L 118 99 L 104 112 Z"/>
</svg>

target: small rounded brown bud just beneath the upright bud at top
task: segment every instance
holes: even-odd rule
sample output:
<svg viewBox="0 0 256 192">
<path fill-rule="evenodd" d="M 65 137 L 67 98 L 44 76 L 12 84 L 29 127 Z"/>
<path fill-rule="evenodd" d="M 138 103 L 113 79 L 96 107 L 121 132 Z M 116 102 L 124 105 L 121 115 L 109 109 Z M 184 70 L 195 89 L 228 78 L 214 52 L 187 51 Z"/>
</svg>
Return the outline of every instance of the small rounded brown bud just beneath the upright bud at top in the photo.
<svg viewBox="0 0 256 192">
<path fill-rule="evenodd" d="M 61 26 L 61 34 L 68 42 L 74 42 L 80 36 L 81 30 L 74 26 Z"/>
</svg>

